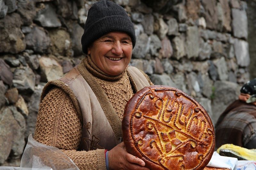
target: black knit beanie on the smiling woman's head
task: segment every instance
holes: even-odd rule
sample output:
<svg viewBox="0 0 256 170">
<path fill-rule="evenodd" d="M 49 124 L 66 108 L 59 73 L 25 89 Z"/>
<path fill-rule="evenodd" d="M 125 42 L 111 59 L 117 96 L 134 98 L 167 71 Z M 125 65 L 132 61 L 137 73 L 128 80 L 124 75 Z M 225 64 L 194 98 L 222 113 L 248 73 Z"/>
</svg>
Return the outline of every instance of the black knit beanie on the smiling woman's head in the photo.
<svg viewBox="0 0 256 170">
<path fill-rule="evenodd" d="M 88 11 L 84 25 L 81 39 L 83 52 L 87 54 L 87 48 L 93 41 L 113 31 L 127 33 L 132 39 L 132 48 L 134 48 L 136 43 L 134 27 L 124 8 L 112 1 L 100 0 L 94 3 Z"/>
</svg>

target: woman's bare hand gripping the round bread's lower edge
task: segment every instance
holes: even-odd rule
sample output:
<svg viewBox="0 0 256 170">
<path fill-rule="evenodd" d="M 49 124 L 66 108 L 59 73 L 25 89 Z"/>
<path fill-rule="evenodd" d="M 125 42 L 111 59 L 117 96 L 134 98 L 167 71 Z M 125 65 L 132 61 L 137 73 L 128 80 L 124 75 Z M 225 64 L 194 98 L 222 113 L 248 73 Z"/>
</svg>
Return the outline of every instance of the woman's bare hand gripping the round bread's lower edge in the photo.
<svg viewBox="0 0 256 170">
<path fill-rule="evenodd" d="M 145 162 L 125 150 L 124 142 L 116 145 L 108 152 L 109 169 L 138 169 L 149 170 L 144 167 Z"/>
</svg>

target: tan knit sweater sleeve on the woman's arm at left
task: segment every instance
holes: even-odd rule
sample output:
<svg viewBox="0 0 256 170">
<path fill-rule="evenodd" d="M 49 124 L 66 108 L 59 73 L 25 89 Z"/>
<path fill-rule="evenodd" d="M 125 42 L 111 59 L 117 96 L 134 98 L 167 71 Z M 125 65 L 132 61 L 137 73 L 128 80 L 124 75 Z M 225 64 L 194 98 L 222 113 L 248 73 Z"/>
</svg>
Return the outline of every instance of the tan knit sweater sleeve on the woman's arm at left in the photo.
<svg viewBox="0 0 256 170">
<path fill-rule="evenodd" d="M 106 169 L 104 149 L 76 151 L 82 136 L 82 120 L 66 92 L 53 88 L 39 105 L 34 139 L 54 146 L 83 169 Z"/>
</svg>

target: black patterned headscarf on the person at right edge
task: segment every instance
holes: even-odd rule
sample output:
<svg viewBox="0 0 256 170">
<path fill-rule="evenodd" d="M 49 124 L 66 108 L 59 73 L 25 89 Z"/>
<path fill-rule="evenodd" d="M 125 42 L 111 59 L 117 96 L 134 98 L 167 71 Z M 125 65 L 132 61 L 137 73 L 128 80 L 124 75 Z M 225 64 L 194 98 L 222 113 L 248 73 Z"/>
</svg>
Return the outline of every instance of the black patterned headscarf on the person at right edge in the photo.
<svg viewBox="0 0 256 170">
<path fill-rule="evenodd" d="M 245 83 L 241 88 L 240 92 L 250 95 L 250 98 L 246 100 L 246 103 L 255 102 L 256 101 L 256 78 Z"/>
</svg>

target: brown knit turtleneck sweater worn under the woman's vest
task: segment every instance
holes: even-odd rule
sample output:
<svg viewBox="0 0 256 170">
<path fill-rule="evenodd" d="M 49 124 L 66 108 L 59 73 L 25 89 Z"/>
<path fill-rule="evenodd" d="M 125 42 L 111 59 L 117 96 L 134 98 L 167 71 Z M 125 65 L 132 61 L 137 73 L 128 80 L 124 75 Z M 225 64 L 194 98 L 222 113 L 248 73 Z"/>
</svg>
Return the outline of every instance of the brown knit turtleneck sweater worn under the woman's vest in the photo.
<svg viewBox="0 0 256 170">
<path fill-rule="evenodd" d="M 106 75 L 92 63 L 90 57 L 85 59 L 85 66 L 97 78 L 95 83 L 101 85 L 122 120 L 125 104 L 134 92 L 127 71 L 124 70 L 119 76 Z M 77 151 L 82 129 L 83 119 L 77 114 L 68 94 L 60 88 L 53 88 L 39 105 L 34 139 L 61 149 L 79 169 L 102 169 L 102 164 L 105 165 L 104 149 Z"/>
</svg>

